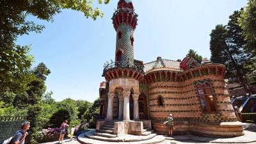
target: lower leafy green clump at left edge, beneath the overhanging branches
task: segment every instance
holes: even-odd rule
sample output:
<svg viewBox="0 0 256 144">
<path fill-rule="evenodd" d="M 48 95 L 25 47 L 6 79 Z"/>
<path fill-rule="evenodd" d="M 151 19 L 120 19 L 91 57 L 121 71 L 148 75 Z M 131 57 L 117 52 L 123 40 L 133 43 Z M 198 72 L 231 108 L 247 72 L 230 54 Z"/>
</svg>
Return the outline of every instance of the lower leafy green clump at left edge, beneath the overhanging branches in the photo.
<svg viewBox="0 0 256 144">
<path fill-rule="evenodd" d="M 2 30 L 0 39 L 3 37 L 1 33 Z M 30 70 L 33 56 L 28 54 L 29 47 L 0 40 L 0 49 L 0 95 L 15 95 L 28 90 L 28 84 L 35 79 Z M 12 102 L 14 97 L 8 99 Z"/>
</svg>

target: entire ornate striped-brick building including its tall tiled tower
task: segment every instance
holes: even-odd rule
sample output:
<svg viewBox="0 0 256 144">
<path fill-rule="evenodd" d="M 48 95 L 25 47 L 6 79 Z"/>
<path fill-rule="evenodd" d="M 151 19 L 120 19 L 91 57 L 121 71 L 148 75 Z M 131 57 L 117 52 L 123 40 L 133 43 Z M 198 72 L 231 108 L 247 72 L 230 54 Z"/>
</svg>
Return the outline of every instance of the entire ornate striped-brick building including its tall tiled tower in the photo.
<svg viewBox="0 0 256 144">
<path fill-rule="evenodd" d="M 172 113 L 176 134 L 243 135 L 223 79 L 225 65 L 198 63 L 189 57 L 182 61 L 158 57 L 145 64 L 134 60 L 137 17 L 131 1 L 118 2 L 112 18 L 116 30 L 115 61 L 104 65 L 102 76 L 106 82 L 100 84 L 99 90 L 102 120 L 97 122 L 97 129 L 102 129 L 106 120 L 143 122 L 142 129 L 146 124 L 157 133 L 166 134 L 168 126 L 163 122 Z M 118 127 L 113 133 L 120 131 Z"/>
</svg>

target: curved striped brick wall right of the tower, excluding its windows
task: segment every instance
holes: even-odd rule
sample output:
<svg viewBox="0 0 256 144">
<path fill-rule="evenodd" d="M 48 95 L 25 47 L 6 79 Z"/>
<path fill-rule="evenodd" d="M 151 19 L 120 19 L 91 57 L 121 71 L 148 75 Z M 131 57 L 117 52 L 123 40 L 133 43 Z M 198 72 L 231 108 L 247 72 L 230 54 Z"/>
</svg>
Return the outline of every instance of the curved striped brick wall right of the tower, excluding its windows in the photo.
<svg viewBox="0 0 256 144">
<path fill-rule="evenodd" d="M 155 71 L 151 75 L 156 77 L 156 81 L 149 77 L 152 81 L 148 83 L 150 118 L 158 133 L 168 134 L 168 125 L 164 125 L 163 122 L 172 113 L 176 128 L 174 133 L 193 132 L 211 136 L 243 135 L 242 125 L 237 122 L 223 80 L 225 74 L 223 65 L 204 65 L 184 72 L 175 72 L 177 74 L 176 81 L 164 77 L 167 76 L 166 73 L 168 75 L 168 73 L 174 72 Z M 157 75 L 160 75 L 161 78 L 157 78 Z M 212 97 L 216 106 L 214 113 L 203 113 L 202 111 L 196 83 L 204 81 L 211 83 Z M 158 104 L 159 96 L 163 97 L 163 106 Z"/>
</svg>

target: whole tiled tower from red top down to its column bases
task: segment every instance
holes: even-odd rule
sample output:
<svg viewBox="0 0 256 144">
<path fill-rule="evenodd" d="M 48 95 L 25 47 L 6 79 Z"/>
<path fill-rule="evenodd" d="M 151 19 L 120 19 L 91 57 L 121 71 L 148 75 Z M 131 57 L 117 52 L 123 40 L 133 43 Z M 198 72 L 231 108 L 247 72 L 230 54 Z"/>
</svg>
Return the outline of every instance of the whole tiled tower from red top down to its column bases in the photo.
<svg viewBox="0 0 256 144">
<path fill-rule="evenodd" d="M 113 26 L 116 30 L 115 62 L 107 62 L 102 74 L 109 86 L 106 120 L 113 120 L 113 118 L 120 120 L 139 119 L 139 81 L 143 79 L 144 71 L 143 64 L 134 63 L 133 58 L 133 33 L 137 25 L 137 17 L 131 0 L 118 1 L 117 10 L 112 17 Z M 113 106 L 113 100 L 118 100 L 118 109 L 117 105 Z M 133 100 L 133 105 L 131 104 L 133 113 L 131 115 L 130 100 Z M 117 111 L 118 113 L 116 113 Z"/>
</svg>

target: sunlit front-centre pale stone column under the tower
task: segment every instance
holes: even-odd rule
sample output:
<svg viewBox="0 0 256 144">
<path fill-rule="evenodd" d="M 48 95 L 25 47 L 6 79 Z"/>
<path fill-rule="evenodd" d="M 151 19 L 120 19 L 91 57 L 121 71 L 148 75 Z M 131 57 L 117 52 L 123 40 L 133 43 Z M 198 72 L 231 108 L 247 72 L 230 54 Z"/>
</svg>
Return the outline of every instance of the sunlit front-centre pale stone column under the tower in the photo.
<svg viewBox="0 0 256 144">
<path fill-rule="evenodd" d="M 123 120 L 130 120 L 130 104 L 129 104 L 129 97 L 130 97 L 130 90 L 124 90 L 124 116 Z"/>
</svg>

